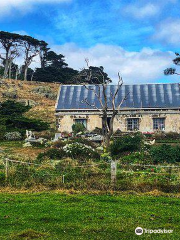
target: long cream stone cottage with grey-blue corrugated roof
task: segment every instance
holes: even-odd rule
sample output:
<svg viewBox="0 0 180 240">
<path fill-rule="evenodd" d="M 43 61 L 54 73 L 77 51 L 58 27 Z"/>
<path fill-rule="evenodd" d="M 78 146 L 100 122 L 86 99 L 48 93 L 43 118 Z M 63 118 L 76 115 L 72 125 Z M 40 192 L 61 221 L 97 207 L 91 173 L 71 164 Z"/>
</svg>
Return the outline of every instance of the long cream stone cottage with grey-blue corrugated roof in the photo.
<svg viewBox="0 0 180 240">
<path fill-rule="evenodd" d="M 89 85 L 97 89 L 95 85 Z M 107 98 L 116 85 L 107 86 Z M 101 87 L 102 91 L 102 87 Z M 180 84 L 123 85 L 116 97 L 116 106 L 128 94 L 114 120 L 114 130 L 122 132 L 178 132 L 180 133 Z M 102 94 L 101 94 L 102 95 Z M 102 128 L 100 103 L 93 91 L 83 85 L 61 85 L 55 107 L 56 126 L 59 132 L 72 132 L 74 123 L 82 123 L 88 131 Z M 102 99 L 103 100 L 103 99 Z M 110 100 L 111 101 L 111 100 Z M 111 116 L 109 106 L 108 114 Z"/>
</svg>

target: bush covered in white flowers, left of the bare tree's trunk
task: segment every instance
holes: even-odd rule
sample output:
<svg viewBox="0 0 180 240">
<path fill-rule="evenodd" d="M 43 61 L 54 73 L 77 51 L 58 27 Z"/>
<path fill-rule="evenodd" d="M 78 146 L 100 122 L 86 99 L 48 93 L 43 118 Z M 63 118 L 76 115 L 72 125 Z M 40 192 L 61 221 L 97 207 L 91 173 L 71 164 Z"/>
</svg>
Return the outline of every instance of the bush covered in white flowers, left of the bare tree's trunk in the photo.
<svg viewBox="0 0 180 240">
<path fill-rule="evenodd" d="M 90 146 L 83 143 L 70 143 L 63 147 L 68 157 L 84 160 L 84 159 L 99 159 L 99 154 Z"/>
</svg>

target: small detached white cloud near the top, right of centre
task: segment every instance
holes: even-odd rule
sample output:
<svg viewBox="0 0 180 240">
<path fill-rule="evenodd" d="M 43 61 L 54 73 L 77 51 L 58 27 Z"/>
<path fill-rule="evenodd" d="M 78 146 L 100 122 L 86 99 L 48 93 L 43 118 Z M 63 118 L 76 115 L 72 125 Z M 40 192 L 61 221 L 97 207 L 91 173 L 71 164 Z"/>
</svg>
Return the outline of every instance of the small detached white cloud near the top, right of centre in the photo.
<svg viewBox="0 0 180 240">
<path fill-rule="evenodd" d="M 153 3 L 147 3 L 143 6 L 139 4 L 128 5 L 125 12 L 137 19 L 143 19 L 147 17 L 154 17 L 160 13 L 160 6 Z"/>
</svg>

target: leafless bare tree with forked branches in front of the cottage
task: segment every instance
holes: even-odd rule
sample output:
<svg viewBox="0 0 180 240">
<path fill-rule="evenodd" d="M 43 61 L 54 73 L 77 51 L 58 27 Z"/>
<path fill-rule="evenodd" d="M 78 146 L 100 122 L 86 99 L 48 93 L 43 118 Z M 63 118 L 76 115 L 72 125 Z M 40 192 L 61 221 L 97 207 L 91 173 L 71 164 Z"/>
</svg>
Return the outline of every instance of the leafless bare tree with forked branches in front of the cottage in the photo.
<svg viewBox="0 0 180 240">
<path fill-rule="evenodd" d="M 87 67 L 89 68 L 89 61 L 88 59 L 85 60 L 87 63 Z M 102 74 L 100 70 L 100 74 L 102 75 L 103 82 L 100 84 L 94 84 L 94 85 L 86 85 L 84 84 L 84 87 L 88 91 L 92 91 L 100 103 L 100 107 L 97 106 L 96 103 L 90 103 L 87 98 L 85 98 L 82 102 L 86 103 L 88 106 L 98 110 L 102 116 L 102 127 L 103 127 L 103 142 L 106 147 L 110 144 L 111 136 L 113 135 L 113 125 L 114 125 L 114 119 L 117 116 L 117 114 L 120 111 L 120 108 L 123 104 L 123 102 L 127 99 L 128 94 L 121 99 L 118 104 L 115 104 L 117 95 L 119 90 L 121 89 L 123 85 L 123 79 L 118 73 L 118 84 L 116 87 L 116 90 L 114 92 L 110 92 L 110 98 L 107 96 L 107 86 L 109 85 L 109 81 L 105 80 L 104 75 Z M 88 71 L 87 77 L 89 78 L 88 82 L 90 82 L 92 78 L 91 71 Z M 108 119 L 110 118 L 110 121 Z"/>
</svg>

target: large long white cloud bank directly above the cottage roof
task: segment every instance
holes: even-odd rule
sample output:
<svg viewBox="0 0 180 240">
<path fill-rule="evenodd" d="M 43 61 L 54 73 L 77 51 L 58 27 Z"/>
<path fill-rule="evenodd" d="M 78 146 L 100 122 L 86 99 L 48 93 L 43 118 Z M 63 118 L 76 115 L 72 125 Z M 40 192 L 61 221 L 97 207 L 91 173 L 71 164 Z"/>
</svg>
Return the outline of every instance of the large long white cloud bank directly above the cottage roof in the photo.
<svg viewBox="0 0 180 240">
<path fill-rule="evenodd" d="M 114 82 L 117 81 L 117 73 L 120 72 L 125 83 L 157 82 L 164 77 L 163 70 L 171 65 L 174 57 L 172 52 L 150 48 L 130 52 L 118 46 L 103 44 L 85 49 L 69 43 L 52 46 L 52 49 L 64 54 L 70 67 L 79 70 L 85 67 L 84 60 L 88 58 L 90 65 L 103 66 Z"/>
</svg>

